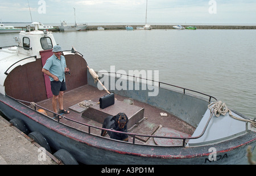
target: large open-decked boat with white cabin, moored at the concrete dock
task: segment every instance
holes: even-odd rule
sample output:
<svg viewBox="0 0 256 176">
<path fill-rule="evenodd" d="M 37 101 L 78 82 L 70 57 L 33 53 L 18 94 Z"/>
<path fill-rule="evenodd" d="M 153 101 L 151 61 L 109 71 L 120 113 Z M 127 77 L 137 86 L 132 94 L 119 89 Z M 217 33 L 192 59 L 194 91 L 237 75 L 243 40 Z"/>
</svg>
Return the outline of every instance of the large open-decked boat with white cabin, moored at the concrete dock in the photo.
<svg viewBox="0 0 256 176">
<path fill-rule="evenodd" d="M 70 113 L 52 118 L 51 87 L 42 67 L 56 45 L 53 33 L 35 25 L 17 41 L 0 48 L 0 111 L 24 134 L 47 141 L 43 147 L 63 164 L 246 164 L 246 149 L 255 148 L 255 120 L 224 112 L 230 108 L 213 96 L 135 72 L 93 71 L 73 47 L 63 51 L 71 71 L 64 95 Z M 105 94 L 115 100 L 102 109 L 98 102 Z M 118 113 L 129 118 L 127 132 L 102 125 Z M 102 130 L 129 140 L 102 136 Z"/>
</svg>

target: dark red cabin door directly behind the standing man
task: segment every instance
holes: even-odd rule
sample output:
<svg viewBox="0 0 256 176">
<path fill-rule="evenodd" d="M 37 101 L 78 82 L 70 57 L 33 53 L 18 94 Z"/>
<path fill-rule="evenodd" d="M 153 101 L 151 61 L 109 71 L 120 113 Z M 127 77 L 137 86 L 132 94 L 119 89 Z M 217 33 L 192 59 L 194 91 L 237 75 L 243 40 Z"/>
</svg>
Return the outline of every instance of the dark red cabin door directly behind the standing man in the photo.
<svg viewBox="0 0 256 176">
<path fill-rule="evenodd" d="M 40 51 L 40 55 L 42 58 L 42 64 L 44 66 L 46 64 L 46 60 L 53 55 L 52 49 Z M 51 98 L 52 97 L 51 81 L 49 80 L 49 76 L 46 74 L 44 74 L 44 83 L 46 84 L 47 98 Z"/>
</svg>

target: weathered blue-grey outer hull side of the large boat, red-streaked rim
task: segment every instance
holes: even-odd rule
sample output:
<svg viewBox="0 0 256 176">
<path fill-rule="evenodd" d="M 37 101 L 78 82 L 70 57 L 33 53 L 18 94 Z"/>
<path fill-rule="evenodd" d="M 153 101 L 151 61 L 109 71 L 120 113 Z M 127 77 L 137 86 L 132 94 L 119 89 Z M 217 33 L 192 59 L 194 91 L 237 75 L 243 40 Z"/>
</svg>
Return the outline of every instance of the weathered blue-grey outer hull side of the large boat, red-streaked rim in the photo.
<svg viewBox="0 0 256 176">
<path fill-rule="evenodd" d="M 160 147 L 120 142 L 77 130 L 0 95 L 0 110 L 19 118 L 30 132 L 40 131 L 55 150 L 66 149 L 83 164 L 247 164 L 246 149 L 256 143 L 255 132 L 203 147 Z M 209 148 L 217 149 L 216 161 Z"/>
</svg>

